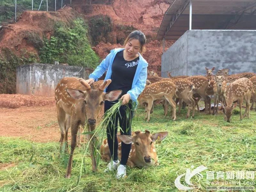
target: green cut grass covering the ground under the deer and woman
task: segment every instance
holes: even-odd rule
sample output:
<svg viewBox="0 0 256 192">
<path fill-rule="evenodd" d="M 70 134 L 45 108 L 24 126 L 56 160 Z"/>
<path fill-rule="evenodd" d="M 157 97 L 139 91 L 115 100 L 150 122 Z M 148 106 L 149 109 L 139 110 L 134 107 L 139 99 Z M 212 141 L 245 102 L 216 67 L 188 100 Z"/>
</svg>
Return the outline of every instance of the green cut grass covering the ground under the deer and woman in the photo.
<svg viewBox="0 0 256 192">
<path fill-rule="evenodd" d="M 0 137 L 0 164 L 3 164 L 0 166 L 0 191 L 178 191 L 174 185 L 177 176 L 186 173 L 186 168 L 194 170 L 200 165 L 208 169 L 201 172 L 201 180 L 192 177 L 192 184 L 200 186 L 196 191 L 206 191 L 206 186 L 256 187 L 244 183 L 255 180 L 239 180 L 236 174 L 234 180 L 216 179 L 216 172 L 255 171 L 256 112 L 251 111 L 251 118 L 242 121 L 238 114 L 233 114 L 231 123 L 224 121 L 222 114 L 212 116 L 196 112 L 194 118 L 186 119 L 186 110 L 182 110 L 176 121 L 171 120 L 170 112 L 166 117 L 163 114 L 162 106 L 156 106 L 150 122 L 145 122 L 144 110 L 139 110 L 132 128 L 133 131 L 169 132 L 160 144 L 155 144 L 160 166 L 128 169 L 127 178 L 122 180 L 116 180 L 115 172 L 104 173 L 107 163 L 103 161 L 98 172 L 91 171 L 90 154 L 88 150 L 85 152 L 87 144 L 76 148 L 72 176 L 65 179 L 67 157 L 59 157 L 58 142 L 35 143 Z M 206 180 L 207 171 L 215 172 L 214 180 Z M 209 184 L 211 181 L 240 181 L 241 184 Z"/>
</svg>

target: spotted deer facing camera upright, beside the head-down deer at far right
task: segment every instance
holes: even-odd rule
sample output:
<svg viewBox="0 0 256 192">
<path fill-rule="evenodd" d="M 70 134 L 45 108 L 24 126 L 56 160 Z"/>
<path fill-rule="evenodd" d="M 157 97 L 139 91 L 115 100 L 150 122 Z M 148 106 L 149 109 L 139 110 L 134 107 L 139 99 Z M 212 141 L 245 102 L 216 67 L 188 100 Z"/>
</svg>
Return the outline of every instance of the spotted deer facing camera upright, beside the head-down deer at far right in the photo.
<svg viewBox="0 0 256 192">
<path fill-rule="evenodd" d="M 214 91 L 214 106 L 212 114 L 218 114 L 219 101 L 226 104 L 226 88 L 227 84 L 224 81 L 224 76 L 215 76 L 213 81 Z M 216 106 L 217 104 L 217 106 Z"/>
</svg>

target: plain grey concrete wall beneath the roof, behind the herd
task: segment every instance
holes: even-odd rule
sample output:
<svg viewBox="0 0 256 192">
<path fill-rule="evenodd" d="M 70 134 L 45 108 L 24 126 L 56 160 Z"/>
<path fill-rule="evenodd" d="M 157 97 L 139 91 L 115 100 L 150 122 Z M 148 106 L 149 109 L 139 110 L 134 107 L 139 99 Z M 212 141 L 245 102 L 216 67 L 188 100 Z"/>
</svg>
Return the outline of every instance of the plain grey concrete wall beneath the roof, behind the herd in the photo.
<svg viewBox="0 0 256 192">
<path fill-rule="evenodd" d="M 256 72 L 256 31 L 188 30 L 162 55 L 164 77 L 166 70 L 173 76 L 205 75 L 205 67 L 214 66 L 214 74 L 222 68 L 230 74 Z"/>
</svg>

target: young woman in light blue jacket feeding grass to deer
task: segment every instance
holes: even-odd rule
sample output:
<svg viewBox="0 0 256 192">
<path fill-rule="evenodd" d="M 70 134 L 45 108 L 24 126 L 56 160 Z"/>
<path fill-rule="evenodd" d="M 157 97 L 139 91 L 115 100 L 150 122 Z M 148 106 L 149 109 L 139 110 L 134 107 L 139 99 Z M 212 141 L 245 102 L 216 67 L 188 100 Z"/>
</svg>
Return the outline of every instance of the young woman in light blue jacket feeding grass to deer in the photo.
<svg viewBox="0 0 256 192">
<path fill-rule="evenodd" d="M 122 100 L 122 106 L 119 109 L 120 114 L 117 113 L 115 119 L 113 117 L 115 125 L 110 122 L 107 128 L 108 146 L 112 160 L 108 164 L 107 169 L 104 170 L 108 172 L 117 169 L 116 178 L 118 179 L 126 176 L 126 163 L 132 145 L 122 142 L 122 156 L 119 162 L 118 140 L 116 136 L 118 119 L 120 127 L 122 128 L 120 133 L 131 135 L 132 114 L 127 118 L 126 108 L 132 107 L 132 103 L 129 102 L 130 100 L 137 102 L 139 94 L 146 85 L 148 63 L 140 54 L 144 52 L 145 43 L 145 35 L 141 31 L 133 31 L 124 41 L 124 48 L 111 50 L 110 54 L 108 54 L 94 72 L 90 74 L 90 79 L 86 80 L 89 84 L 92 84 L 107 71 L 105 80 L 111 79 L 112 82 L 106 88 L 106 92 L 122 90 L 120 98 Z M 118 100 L 114 102 L 105 101 L 104 112 L 111 108 L 116 102 L 118 102 Z"/>
</svg>

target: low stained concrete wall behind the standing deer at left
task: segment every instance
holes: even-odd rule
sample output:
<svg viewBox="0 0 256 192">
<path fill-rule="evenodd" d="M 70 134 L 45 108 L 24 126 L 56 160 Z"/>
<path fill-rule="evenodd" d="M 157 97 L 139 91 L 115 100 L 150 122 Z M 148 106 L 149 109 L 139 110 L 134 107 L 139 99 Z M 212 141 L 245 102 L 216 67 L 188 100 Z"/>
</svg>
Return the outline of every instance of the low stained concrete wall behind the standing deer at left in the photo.
<svg viewBox="0 0 256 192">
<path fill-rule="evenodd" d="M 31 64 L 17 67 L 17 94 L 54 96 L 54 90 L 63 77 L 88 79 L 92 69 L 80 66 Z"/>
</svg>

